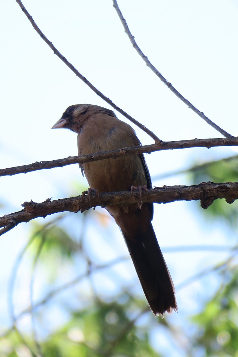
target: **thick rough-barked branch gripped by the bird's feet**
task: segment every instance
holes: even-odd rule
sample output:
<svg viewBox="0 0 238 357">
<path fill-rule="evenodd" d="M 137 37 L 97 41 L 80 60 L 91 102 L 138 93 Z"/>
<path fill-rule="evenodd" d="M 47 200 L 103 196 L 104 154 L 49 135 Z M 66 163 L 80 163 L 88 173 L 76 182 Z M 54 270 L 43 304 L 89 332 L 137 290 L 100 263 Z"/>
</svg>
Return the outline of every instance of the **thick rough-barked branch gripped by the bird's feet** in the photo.
<svg viewBox="0 0 238 357">
<path fill-rule="evenodd" d="M 200 200 L 202 208 L 206 209 L 217 198 L 225 198 L 227 203 L 233 203 L 238 198 L 238 182 L 213 183 L 202 182 L 193 186 L 163 186 L 155 187 L 142 193 L 142 202 L 168 203 L 174 201 Z M 51 201 L 48 198 L 41 203 L 24 202 L 24 209 L 0 217 L 0 235 L 15 227 L 18 223 L 29 222 L 37 217 L 46 217 L 57 212 L 83 212 L 91 207 L 106 205 L 140 204 L 139 192 L 108 192 L 100 193 L 100 197 L 92 195 L 62 198 Z"/>
</svg>

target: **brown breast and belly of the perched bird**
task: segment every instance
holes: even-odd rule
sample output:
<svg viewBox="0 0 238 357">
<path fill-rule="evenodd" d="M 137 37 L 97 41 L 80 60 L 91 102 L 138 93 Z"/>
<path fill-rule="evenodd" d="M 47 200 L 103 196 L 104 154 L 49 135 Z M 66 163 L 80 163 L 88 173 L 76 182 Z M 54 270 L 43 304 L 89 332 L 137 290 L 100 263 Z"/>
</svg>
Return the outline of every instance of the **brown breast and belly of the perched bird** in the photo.
<svg viewBox="0 0 238 357">
<path fill-rule="evenodd" d="M 127 132 L 128 127 L 130 132 Z M 137 143 L 132 135 L 136 138 L 133 129 L 125 123 L 122 127 L 111 121 L 107 126 L 105 122 L 103 125 L 96 123 L 93 126 L 84 126 L 78 134 L 78 153 L 86 155 L 135 146 Z M 82 166 L 90 187 L 99 192 L 126 191 L 132 185 L 147 185 L 140 155 L 87 162 Z"/>
</svg>

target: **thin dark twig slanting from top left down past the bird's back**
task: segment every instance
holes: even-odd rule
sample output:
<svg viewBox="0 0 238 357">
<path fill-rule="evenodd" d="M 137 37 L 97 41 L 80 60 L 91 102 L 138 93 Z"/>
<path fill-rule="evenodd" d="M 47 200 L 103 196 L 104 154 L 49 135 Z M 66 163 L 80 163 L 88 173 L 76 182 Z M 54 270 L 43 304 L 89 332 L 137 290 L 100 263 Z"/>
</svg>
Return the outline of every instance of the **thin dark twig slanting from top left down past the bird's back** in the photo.
<svg viewBox="0 0 238 357">
<path fill-rule="evenodd" d="M 37 34 L 40 35 L 42 40 L 44 40 L 47 45 L 51 48 L 52 51 L 54 51 L 54 54 L 58 56 L 65 64 L 68 66 L 71 71 L 76 74 L 77 77 L 79 77 L 90 89 L 95 92 L 99 97 L 101 97 L 105 102 L 110 104 L 114 109 L 116 109 L 119 113 L 121 113 L 123 116 L 125 116 L 127 119 L 129 119 L 132 123 L 137 125 L 140 129 L 145 131 L 150 137 L 152 137 L 153 140 L 155 140 L 156 143 L 161 142 L 161 140 L 151 131 L 149 130 L 145 125 L 142 125 L 140 122 L 138 122 L 136 119 L 132 118 L 129 114 L 127 114 L 124 110 L 119 108 L 115 103 L 111 101 L 108 97 L 106 97 L 102 92 L 100 92 L 94 85 L 92 85 L 61 53 L 57 50 L 57 48 L 52 44 L 51 41 L 47 39 L 47 37 L 43 34 L 43 32 L 39 29 L 39 27 L 36 25 L 35 21 L 32 19 L 32 16 L 29 14 L 29 12 L 26 10 L 25 6 L 22 4 L 20 0 L 16 0 L 17 4 L 20 6 L 21 10 L 24 12 L 26 15 L 27 19 L 31 22 L 31 25 L 34 27 L 34 30 L 36 30 Z"/>
</svg>

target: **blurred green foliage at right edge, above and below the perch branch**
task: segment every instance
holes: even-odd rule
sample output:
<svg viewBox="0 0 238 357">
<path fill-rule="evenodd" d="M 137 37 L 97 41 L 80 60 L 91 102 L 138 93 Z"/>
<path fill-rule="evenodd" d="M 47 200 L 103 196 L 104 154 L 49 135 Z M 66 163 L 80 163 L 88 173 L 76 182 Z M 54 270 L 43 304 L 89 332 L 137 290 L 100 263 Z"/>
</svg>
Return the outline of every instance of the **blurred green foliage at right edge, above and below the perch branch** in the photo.
<svg viewBox="0 0 238 357">
<path fill-rule="evenodd" d="M 191 177 L 193 185 L 200 182 L 237 182 L 238 181 L 238 155 L 227 159 L 207 162 L 195 165 L 187 171 Z M 199 211 L 201 208 L 199 208 Z M 227 203 L 224 199 L 215 200 L 204 212 L 207 219 L 219 219 L 228 223 L 232 227 L 237 227 L 238 202 Z"/>
</svg>

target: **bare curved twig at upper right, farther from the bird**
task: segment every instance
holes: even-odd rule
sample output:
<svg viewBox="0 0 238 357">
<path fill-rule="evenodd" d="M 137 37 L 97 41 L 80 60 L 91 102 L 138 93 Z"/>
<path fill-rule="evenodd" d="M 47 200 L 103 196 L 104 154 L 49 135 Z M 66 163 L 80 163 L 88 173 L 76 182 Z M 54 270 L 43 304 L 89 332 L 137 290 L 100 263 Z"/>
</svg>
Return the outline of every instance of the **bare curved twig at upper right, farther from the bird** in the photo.
<svg viewBox="0 0 238 357">
<path fill-rule="evenodd" d="M 163 76 L 162 74 L 155 68 L 155 66 L 152 65 L 152 63 L 148 60 L 148 57 L 145 56 L 145 54 L 143 54 L 143 52 L 141 51 L 140 47 L 137 45 L 136 41 L 135 41 L 135 37 L 131 34 L 131 31 L 129 30 L 129 27 L 127 25 L 127 22 L 125 20 L 125 18 L 122 15 L 121 10 L 119 9 L 119 6 L 117 4 L 116 0 L 112 0 L 113 1 L 113 7 L 115 7 L 115 10 L 117 12 L 117 15 L 119 16 L 122 25 L 124 27 L 124 30 L 127 34 L 127 36 L 129 37 L 132 46 L 135 48 L 135 50 L 138 52 L 138 54 L 141 56 L 141 58 L 146 62 L 146 65 L 157 75 L 157 77 L 159 77 L 159 79 L 180 99 L 182 100 L 189 109 L 192 109 L 197 115 L 199 115 L 203 120 L 205 120 L 207 122 L 207 124 L 211 125 L 214 129 L 216 129 L 217 131 L 219 131 L 219 133 L 221 133 L 223 136 L 225 137 L 232 137 L 233 135 L 229 134 L 228 132 L 226 132 L 225 130 L 223 130 L 222 128 L 220 128 L 217 124 L 215 124 L 213 121 L 211 121 L 210 119 L 208 119 L 208 117 L 206 115 L 204 115 L 203 112 L 199 111 L 196 107 L 194 107 L 194 105 L 192 103 L 190 103 L 186 98 L 184 98 L 182 96 L 182 94 L 180 94 L 173 86 L 171 83 L 169 83 Z"/>
</svg>

